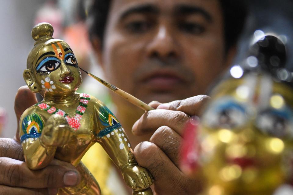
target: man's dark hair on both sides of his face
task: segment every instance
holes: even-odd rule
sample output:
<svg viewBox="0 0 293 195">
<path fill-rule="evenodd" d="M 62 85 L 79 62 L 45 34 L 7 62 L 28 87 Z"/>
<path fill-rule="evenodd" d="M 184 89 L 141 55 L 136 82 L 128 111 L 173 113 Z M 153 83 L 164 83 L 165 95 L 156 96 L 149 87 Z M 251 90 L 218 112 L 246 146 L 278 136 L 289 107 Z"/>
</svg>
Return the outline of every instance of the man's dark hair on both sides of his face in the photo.
<svg viewBox="0 0 293 195">
<path fill-rule="evenodd" d="M 246 7 L 242 1 L 219 0 L 224 18 L 226 51 L 236 44 L 246 19 Z M 97 36 L 103 45 L 103 37 L 111 0 L 95 0 L 89 9 L 89 36 Z"/>
</svg>

